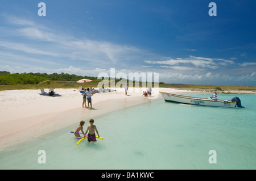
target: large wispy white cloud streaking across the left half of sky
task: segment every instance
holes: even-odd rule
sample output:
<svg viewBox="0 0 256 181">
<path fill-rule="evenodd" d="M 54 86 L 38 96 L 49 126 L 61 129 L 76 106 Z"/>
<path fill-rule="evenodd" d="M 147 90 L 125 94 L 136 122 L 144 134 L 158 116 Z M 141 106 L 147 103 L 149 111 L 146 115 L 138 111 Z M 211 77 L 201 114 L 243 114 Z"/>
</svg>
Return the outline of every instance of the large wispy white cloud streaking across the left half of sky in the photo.
<svg viewBox="0 0 256 181">
<path fill-rule="evenodd" d="M 11 28 L 10 36 L 18 35 L 15 39 L 5 40 L 1 37 L 0 47 L 29 54 L 62 57 L 63 64 L 70 65 L 70 60 L 85 61 L 89 64 L 107 65 L 109 63 L 122 65 L 123 61 L 135 61 L 150 54 L 130 45 L 115 44 L 109 41 L 90 40 L 57 32 L 46 26 L 22 19 L 16 16 L 2 15 Z M 15 32 L 15 33 L 14 33 Z M 121 62 L 121 63 L 120 63 Z M 119 63 L 119 64 L 118 64 Z"/>
</svg>

